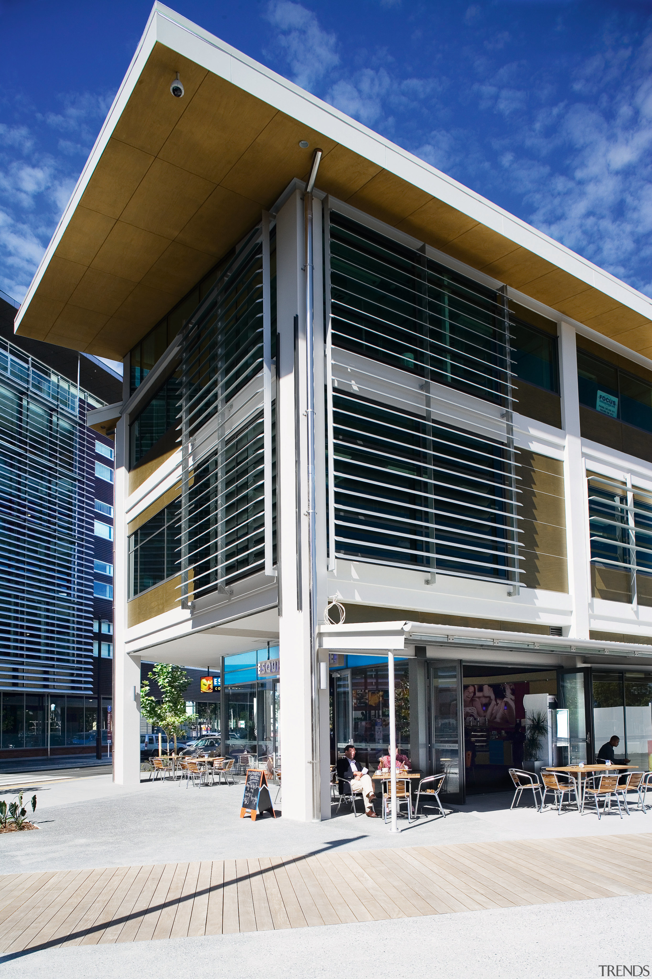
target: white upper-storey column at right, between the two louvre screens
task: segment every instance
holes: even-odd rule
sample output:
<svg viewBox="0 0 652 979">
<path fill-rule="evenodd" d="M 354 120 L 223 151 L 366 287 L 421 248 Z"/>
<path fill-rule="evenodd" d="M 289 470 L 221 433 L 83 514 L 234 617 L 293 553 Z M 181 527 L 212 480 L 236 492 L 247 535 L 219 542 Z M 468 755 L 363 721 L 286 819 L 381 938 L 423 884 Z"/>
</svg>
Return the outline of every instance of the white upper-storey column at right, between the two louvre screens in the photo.
<svg viewBox="0 0 652 979">
<path fill-rule="evenodd" d="M 590 549 L 588 544 L 587 475 L 582 457 L 578 356 L 575 329 L 559 324 L 559 368 L 562 425 L 566 432 L 564 495 L 566 501 L 566 551 L 568 588 L 573 596 L 570 634 L 588 638 L 590 601 Z"/>
</svg>

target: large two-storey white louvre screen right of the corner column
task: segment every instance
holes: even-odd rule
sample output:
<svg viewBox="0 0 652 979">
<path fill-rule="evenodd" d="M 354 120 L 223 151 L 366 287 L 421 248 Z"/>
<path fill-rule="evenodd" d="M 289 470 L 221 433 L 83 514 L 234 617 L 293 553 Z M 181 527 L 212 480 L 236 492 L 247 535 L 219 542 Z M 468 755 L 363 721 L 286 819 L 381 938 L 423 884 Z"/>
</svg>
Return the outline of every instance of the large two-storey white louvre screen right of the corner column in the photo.
<svg viewBox="0 0 652 979">
<path fill-rule="evenodd" d="M 523 572 L 503 297 L 330 210 L 336 557 L 511 583 Z M 329 394 L 330 400 L 330 394 Z"/>
</svg>

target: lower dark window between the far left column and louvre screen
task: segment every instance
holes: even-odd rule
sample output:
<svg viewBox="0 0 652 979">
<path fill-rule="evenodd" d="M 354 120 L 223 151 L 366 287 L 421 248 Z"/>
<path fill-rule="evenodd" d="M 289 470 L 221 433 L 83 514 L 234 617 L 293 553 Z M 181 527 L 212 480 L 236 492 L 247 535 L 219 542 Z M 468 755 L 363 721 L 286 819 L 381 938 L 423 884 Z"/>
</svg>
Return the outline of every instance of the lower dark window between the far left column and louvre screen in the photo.
<svg viewBox="0 0 652 979">
<path fill-rule="evenodd" d="M 179 574 L 181 499 L 154 514 L 129 537 L 129 597 Z"/>
</svg>

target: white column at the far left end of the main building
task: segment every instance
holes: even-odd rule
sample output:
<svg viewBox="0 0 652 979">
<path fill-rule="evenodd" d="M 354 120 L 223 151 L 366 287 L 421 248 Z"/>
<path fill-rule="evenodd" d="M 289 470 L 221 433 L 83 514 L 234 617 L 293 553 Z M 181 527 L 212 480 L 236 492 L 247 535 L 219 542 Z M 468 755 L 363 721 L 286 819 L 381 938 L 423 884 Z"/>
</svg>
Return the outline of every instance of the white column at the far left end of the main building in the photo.
<svg viewBox="0 0 652 979">
<path fill-rule="evenodd" d="M 141 661 L 125 652 L 127 627 L 127 526 L 129 489 L 129 427 L 125 418 L 115 426 L 115 499 L 113 507 L 113 780 L 135 785 L 141 778 Z M 134 696 L 134 692 L 136 696 Z M 138 697 L 138 700 L 136 699 Z"/>
</svg>

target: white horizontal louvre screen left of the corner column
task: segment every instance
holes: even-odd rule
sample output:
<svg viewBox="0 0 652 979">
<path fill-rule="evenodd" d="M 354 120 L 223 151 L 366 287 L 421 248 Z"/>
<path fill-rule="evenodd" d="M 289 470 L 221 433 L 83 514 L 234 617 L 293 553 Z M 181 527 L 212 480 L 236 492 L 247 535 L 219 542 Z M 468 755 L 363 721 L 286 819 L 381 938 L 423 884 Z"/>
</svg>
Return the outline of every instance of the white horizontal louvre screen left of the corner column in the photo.
<svg viewBox="0 0 652 979">
<path fill-rule="evenodd" d="M 230 584 L 265 563 L 263 363 L 264 354 L 269 358 L 270 314 L 268 308 L 264 315 L 264 307 L 270 290 L 264 289 L 263 257 L 263 230 L 257 227 L 184 328 L 179 596 L 184 605 L 191 596 L 228 593 Z M 271 405 L 265 424 L 272 425 Z"/>
</svg>

